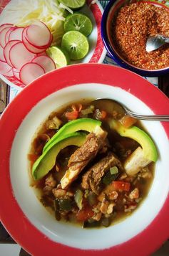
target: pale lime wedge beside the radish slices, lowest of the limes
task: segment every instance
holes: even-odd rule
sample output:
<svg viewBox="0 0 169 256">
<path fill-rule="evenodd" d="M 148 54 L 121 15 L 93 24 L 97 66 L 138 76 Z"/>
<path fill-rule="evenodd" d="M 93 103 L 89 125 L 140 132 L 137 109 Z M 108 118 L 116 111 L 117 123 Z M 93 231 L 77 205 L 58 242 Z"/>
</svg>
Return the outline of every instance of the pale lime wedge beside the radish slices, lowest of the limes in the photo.
<svg viewBox="0 0 169 256">
<path fill-rule="evenodd" d="M 70 62 L 68 53 L 64 49 L 61 49 L 61 47 L 49 47 L 46 49 L 46 53 L 53 59 L 57 68 L 65 67 Z"/>
</svg>

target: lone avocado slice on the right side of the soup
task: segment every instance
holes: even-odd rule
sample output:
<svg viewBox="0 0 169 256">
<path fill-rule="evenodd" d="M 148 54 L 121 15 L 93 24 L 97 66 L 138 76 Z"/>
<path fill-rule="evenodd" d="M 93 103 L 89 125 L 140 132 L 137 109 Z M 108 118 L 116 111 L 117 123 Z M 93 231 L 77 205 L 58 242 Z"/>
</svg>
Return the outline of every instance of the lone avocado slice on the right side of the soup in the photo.
<svg viewBox="0 0 169 256">
<path fill-rule="evenodd" d="M 110 120 L 109 125 L 122 137 L 133 138 L 133 140 L 137 141 L 143 149 L 143 157 L 145 159 L 153 162 L 158 160 L 157 148 L 155 147 L 155 144 L 153 143 L 150 136 L 148 136 L 145 131 L 136 126 L 124 128 L 123 125 L 121 125 L 121 123 L 116 120 Z"/>
</svg>

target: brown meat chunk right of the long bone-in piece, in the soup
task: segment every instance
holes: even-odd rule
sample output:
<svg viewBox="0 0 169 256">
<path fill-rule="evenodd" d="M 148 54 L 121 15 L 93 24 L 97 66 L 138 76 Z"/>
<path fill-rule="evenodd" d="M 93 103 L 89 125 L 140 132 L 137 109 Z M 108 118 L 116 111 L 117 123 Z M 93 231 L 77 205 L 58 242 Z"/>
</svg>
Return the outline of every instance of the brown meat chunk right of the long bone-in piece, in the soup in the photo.
<svg viewBox="0 0 169 256">
<path fill-rule="evenodd" d="M 123 171 L 121 161 L 118 160 L 113 153 L 109 152 L 108 156 L 101 159 L 101 161 L 92 166 L 91 169 L 89 169 L 86 174 L 83 175 L 81 183 L 83 189 L 91 188 L 94 193 L 99 194 L 101 189 L 101 179 L 113 166 L 117 166 L 120 171 Z"/>
</svg>

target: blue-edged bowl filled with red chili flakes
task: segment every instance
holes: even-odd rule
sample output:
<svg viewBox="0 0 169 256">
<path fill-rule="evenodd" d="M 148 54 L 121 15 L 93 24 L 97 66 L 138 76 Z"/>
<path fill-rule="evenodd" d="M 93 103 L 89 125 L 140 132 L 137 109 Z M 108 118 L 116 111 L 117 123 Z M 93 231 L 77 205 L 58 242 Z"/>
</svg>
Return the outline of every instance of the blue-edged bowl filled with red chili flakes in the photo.
<svg viewBox="0 0 169 256">
<path fill-rule="evenodd" d="M 148 37 L 168 37 L 168 1 L 110 1 L 101 22 L 102 39 L 118 65 L 142 76 L 168 73 L 168 44 L 146 51 Z"/>
</svg>

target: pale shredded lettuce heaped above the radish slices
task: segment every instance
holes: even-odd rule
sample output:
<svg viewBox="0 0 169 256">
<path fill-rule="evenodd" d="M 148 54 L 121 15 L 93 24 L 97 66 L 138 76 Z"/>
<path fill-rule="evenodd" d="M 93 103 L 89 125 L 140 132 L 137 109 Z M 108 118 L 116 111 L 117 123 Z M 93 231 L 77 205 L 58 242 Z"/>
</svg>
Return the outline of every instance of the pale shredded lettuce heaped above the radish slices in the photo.
<svg viewBox="0 0 169 256">
<path fill-rule="evenodd" d="M 53 44 L 59 44 L 64 34 L 63 22 L 67 11 L 58 0 L 11 0 L 1 13 L 0 24 L 26 27 L 39 19 L 53 34 Z"/>
</svg>

